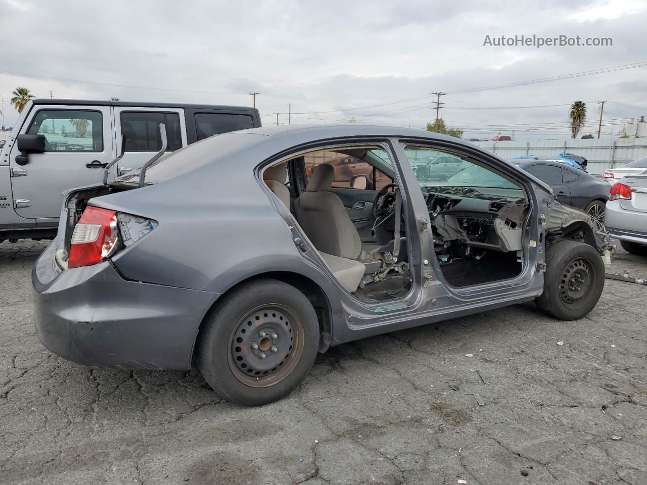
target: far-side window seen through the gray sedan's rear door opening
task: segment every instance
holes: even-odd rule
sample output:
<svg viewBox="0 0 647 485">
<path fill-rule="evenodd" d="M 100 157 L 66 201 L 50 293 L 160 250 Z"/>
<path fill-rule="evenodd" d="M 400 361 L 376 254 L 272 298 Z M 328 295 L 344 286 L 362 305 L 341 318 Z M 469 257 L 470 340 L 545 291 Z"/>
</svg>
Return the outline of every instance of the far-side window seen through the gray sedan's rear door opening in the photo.
<svg viewBox="0 0 647 485">
<path fill-rule="evenodd" d="M 379 162 L 387 162 L 390 166 L 388 155 L 382 149 L 370 149 L 373 156 L 377 156 Z M 349 155 L 354 153 L 356 156 Z M 303 155 L 305 162 L 305 173 L 310 180 L 314 169 L 320 164 L 329 164 L 334 168 L 333 188 L 349 189 L 351 182 L 358 175 L 364 175 L 367 179 L 367 190 L 380 190 L 382 187 L 393 182 L 385 173 L 378 170 L 371 164 L 360 160 L 367 155 L 366 148 L 338 149 L 338 151 L 314 151 Z M 371 158 L 371 157 L 369 157 Z"/>
</svg>

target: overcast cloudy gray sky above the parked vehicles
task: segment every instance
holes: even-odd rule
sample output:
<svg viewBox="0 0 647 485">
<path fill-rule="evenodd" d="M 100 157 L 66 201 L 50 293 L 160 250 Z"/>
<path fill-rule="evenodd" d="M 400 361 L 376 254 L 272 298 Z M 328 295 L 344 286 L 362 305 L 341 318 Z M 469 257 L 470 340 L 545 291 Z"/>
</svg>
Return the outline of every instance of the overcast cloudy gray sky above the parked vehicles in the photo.
<svg viewBox="0 0 647 485">
<path fill-rule="evenodd" d="M 52 90 L 58 98 L 234 105 L 251 105 L 247 93 L 258 91 L 263 124 L 276 123 L 277 112 L 287 124 L 292 103 L 293 124 L 354 116 L 415 128 L 435 116 L 430 93 L 444 91 L 450 94 L 441 99 L 441 116 L 477 138 L 499 129 L 511 135 L 513 128 L 518 139 L 564 138 L 567 105 L 575 100 L 587 102 L 587 133 L 597 131 L 598 100 L 633 106 L 606 105 L 605 133 L 618 133 L 622 118 L 647 115 L 647 67 L 451 93 L 647 61 L 647 1 L 2 4 L 6 125 L 17 117 L 6 102 L 16 86 L 38 97 Z M 605 37 L 613 46 L 483 45 L 487 35 L 522 34 Z M 482 109 L 545 105 L 561 106 Z M 375 107 L 354 109 L 367 106 Z"/>
</svg>

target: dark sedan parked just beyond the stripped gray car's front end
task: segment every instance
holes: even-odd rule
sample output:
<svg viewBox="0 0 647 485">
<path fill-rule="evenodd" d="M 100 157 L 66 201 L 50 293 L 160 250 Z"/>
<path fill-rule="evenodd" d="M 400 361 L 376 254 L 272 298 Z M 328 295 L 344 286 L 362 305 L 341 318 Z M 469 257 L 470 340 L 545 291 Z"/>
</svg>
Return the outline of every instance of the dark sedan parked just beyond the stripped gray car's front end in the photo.
<svg viewBox="0 0 647 485">
<path fill-rule="evenodd" d="M 547 183 L 562 204 L 586 211 L 599 230 L 604 229 L 604 209 L 609 183 L 582 170 L 546 160 L 509 160 Z"/>
</svg>

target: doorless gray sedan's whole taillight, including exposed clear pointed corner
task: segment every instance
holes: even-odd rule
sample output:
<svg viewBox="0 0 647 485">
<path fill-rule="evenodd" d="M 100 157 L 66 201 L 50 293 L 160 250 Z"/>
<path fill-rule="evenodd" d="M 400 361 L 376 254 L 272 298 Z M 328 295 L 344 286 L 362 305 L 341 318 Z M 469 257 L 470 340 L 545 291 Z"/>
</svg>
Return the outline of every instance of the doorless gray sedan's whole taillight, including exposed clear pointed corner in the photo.
<svg viewBox="0 0 647 485">
<path fill-rule="evenodd" d="M 100 263 L 156 226 L 157 222 L 144 217 L 88 206 L 74 227 L 67 267 Z"/>
</svg>

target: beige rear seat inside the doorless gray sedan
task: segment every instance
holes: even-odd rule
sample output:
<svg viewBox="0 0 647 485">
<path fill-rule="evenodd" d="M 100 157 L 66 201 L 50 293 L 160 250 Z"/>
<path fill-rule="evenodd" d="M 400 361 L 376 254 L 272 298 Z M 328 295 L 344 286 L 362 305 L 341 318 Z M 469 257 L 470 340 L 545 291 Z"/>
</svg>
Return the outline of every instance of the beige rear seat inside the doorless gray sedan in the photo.
<svg viewBox="0 0 647 485">
<path fill-rule="evenodd" d="M 290 191 L 285 186 L 286 179 L 287 169 L 285 167 L 285 163 L 267 167 L 263 172 L 263 180 L 265 180 L 265 184 L 289 211 Z M 296 218 L 292 216 L 292 219 L 294 219 L 296 226 L 301 230 Z M 307 239 L 305 232 L 301 232 L 305 239 Z M 308 242 L 311 241 L 308 239 Z M 331 271 L 333 276 L 347 292 L 352 293 L 357 289 L 357 286 L 359 286 L 360 281 L 362 281 L 362 277 L 364 276 L 364 264 L 360 263 L 360 261 L 355 261 L 355 259 L 333 256 L 332 254 L 322 253 L 319 251 L 317 251 L 317 253 L 322 257 L 323 263 L 328 266 L 328 269 Z"/>
</svg>

